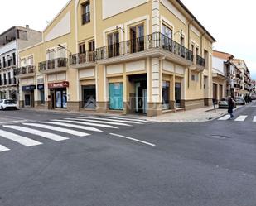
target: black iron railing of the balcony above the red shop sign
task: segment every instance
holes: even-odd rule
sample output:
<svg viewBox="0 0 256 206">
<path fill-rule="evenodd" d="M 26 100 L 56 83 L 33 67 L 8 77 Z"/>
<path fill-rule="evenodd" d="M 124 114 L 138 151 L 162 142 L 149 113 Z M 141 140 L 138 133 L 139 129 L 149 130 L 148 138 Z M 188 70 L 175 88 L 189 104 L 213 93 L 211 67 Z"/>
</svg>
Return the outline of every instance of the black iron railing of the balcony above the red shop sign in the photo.
<svg viewBox="0 0 256 206">
<path fill-rule="evenodd" d="M 38 64 L 39 71 L 47 71 L 51 69 L 59 69 L 59 68 L 64 68 L 67 67 L 67 58 L 57 58 L 54 60 L 46 60 L 42 61 Z"/>
</svg>

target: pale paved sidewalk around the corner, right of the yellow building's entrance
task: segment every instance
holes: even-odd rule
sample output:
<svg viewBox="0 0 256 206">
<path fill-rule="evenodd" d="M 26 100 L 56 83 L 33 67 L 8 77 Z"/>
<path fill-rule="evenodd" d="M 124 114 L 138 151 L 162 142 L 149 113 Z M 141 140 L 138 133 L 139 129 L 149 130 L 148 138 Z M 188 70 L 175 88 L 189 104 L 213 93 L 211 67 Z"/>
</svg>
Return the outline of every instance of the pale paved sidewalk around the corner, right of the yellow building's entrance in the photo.
<svg viewBox="0 0 256 206">
<path fill-rule="evenodd" d="M 217 106 L 216 106 L 217 107 Z M 227 113 L 227 109 L 211 107 L 197 108 L 184 112 L 163 114 L 159 117 L 147 117 L 153 122 L 208 122 L 221 117 Z"/>
</svg>

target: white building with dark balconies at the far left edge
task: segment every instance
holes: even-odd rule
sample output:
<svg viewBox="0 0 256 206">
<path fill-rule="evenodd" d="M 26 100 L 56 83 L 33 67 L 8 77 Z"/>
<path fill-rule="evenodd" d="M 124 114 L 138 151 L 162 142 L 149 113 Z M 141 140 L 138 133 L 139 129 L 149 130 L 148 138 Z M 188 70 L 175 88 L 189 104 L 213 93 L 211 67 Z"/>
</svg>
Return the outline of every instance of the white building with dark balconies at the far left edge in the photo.
<svg viewBox="0 0 256 206">
<path fill-rule="evenodd" d="M 41 32 L 31 30 L 29 26 L 12 26 L 0 35 L 0 99 L 17 99 L 18 50 L 35 45 L 41 39 Z"/>
</svg>

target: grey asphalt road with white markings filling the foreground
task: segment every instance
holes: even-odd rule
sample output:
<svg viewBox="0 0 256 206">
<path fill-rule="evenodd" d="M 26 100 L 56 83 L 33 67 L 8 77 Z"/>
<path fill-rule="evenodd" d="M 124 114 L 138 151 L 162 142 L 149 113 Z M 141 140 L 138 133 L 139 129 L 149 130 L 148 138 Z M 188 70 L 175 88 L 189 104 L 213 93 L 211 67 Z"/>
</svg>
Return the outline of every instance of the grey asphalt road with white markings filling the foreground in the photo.
<svg viewBox="0 0 256 206">
<path fill-rule="evenodd" d="M 203 123 L 0 111 L 0 205 L 256 206 L 255 116 L 256 103 Z"/>
</svg>

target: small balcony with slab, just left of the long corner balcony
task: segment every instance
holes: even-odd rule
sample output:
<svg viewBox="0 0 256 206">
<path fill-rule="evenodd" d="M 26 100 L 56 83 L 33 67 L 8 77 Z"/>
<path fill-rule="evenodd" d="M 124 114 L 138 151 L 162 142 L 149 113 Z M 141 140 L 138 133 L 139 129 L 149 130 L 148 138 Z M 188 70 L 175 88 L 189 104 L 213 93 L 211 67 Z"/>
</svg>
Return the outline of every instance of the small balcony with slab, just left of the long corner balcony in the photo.
<svg viewBox="0 0 256 206">
<path fill-rule="evenodd" d="M 95 66 L 96 52 L 86 51 L 84 54 L 70 55 L 70 66 L 74 69 Z"/>
</svg>

